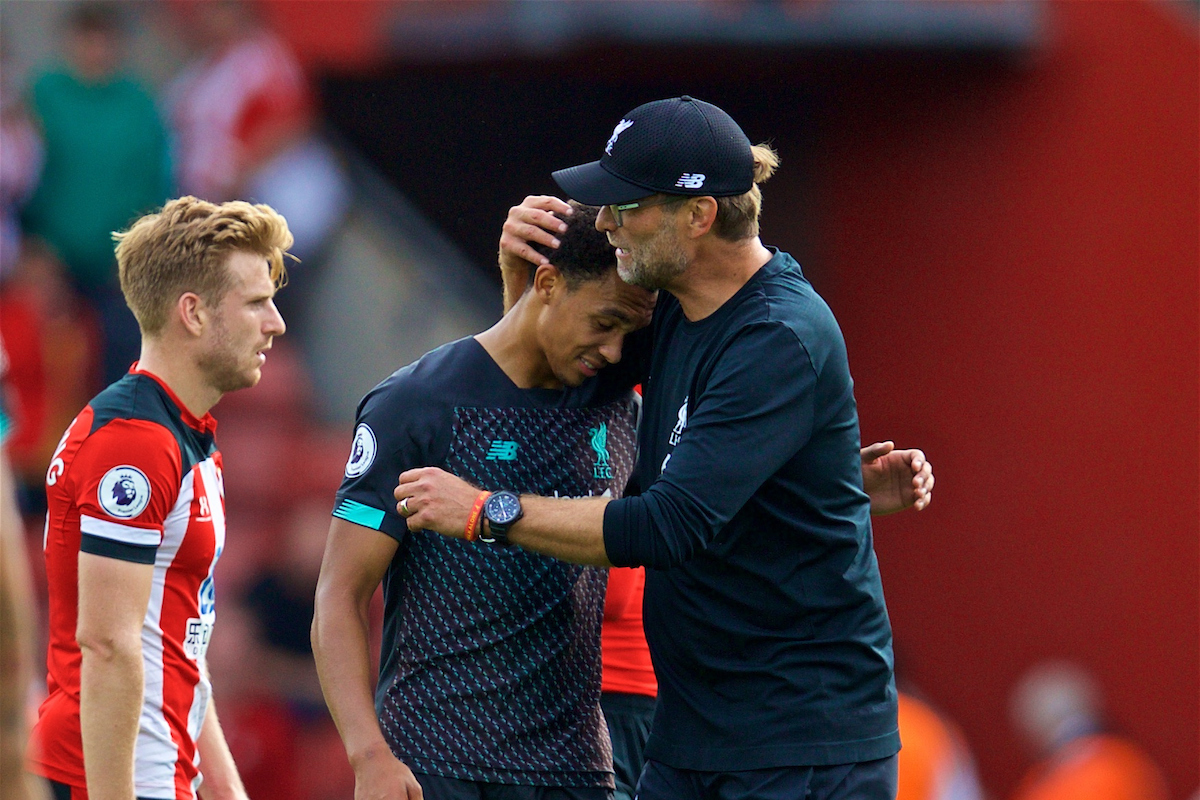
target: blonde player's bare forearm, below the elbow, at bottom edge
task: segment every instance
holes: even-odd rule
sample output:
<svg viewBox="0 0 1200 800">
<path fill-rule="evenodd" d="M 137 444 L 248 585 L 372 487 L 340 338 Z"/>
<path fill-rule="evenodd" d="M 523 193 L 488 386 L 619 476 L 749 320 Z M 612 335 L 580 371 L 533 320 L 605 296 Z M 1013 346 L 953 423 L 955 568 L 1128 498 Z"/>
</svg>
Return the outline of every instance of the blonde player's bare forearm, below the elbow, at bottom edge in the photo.
<svg viewBox="0 0 1200 800">
<path fill-rule="evenodd" d="M 142 642 L 80 640 L 79 724 L 91 800 L 132 800 L 142 716 Z"/>
</svg>

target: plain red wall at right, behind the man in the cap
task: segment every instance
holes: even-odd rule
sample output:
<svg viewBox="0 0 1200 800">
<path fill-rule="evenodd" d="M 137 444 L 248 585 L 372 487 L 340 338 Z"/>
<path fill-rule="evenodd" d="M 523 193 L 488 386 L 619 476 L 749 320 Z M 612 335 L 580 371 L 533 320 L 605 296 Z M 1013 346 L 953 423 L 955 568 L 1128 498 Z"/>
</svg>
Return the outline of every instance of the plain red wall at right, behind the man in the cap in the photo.
<svg viewBox="0 0 1200 800">
<path fill-rule="evenodd" d="M 998 79 L 914 68 L 834 92 L 818 285 L 864 440 L 936 465 L 930 511 L 876 525 L 910 676 L 1003 796 L 1028 763 L 1009 687 L 1076 658 L 1183 798 L 1200 753 L 1195 18 L 1046 12 L 1045 47 Z"/>
</svg>

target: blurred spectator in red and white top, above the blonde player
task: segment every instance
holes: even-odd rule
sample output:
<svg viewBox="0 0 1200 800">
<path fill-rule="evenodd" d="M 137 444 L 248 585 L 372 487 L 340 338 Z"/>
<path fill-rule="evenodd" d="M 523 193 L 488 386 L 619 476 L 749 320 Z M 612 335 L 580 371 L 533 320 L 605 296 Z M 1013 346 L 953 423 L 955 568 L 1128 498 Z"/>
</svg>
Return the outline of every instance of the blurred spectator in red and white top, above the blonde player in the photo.
<svg viewBox="0 0 1200 800">
<path fill-rule="evenodd" d="M 168 91 L 181 188 L 274 205 L 288 218 L 294 252 L 302 260 L 319 254 L 349 190 L 336 157 L 312 133 L 304 71 L 242 2 L 191 2 L 180 11 L 199 52 Z"/>
</svg>

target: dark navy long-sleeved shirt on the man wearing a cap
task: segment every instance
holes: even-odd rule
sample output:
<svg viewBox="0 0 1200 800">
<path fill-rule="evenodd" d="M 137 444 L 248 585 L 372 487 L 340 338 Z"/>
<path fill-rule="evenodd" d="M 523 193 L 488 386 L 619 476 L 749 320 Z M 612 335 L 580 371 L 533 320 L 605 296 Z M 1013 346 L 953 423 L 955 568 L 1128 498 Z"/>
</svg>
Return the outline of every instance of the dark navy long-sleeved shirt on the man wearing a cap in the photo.
<svg viewBox="0 0 1200 800">
<path fill-rule="evenodd" d="M 892 628 L 833 313 L 775 252 L 708 318 L 660 295 L 636 498 L 605 547 L 646 565 L 647 758 L 751 770 L 900 747 Z"/>
</svg>

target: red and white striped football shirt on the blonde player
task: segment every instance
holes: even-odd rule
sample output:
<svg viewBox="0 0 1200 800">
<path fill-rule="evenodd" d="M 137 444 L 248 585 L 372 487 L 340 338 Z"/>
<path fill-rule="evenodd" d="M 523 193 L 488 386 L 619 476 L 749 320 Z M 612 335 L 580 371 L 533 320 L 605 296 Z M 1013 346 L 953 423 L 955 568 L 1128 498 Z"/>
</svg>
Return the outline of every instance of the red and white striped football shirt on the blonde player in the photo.
<svg viewBox="0 0 1200 800">
<path fill-rule="evenodd" d="M 224 547 L 224 489 L 211 415 L 197 419 L 137 365 L 97 395 L 59 443 L 46 476 L 49 696 L 31 748 L 43 776 L 86 787 L 76 642 L 79 553 L 154 564 L 142 625 L 144 694 L 134 747 L 139 798 L 192 800 L 212 571 Z"/>
</svg>

